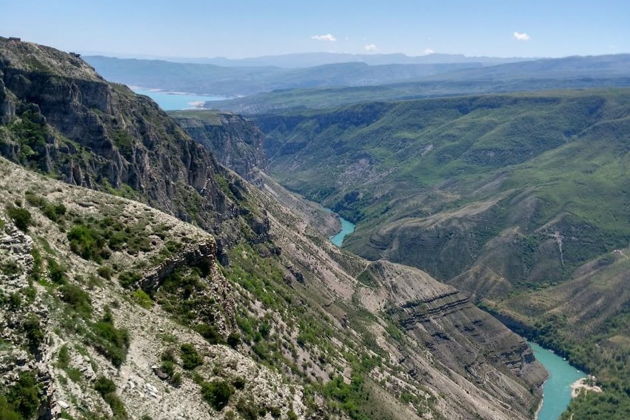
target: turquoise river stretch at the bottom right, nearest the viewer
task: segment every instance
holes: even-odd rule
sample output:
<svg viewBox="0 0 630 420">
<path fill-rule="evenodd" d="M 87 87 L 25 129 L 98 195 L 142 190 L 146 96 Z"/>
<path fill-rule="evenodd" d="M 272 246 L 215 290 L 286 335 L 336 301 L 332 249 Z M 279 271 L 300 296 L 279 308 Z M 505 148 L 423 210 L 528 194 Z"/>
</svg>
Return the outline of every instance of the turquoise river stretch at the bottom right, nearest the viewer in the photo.
<svg viewBox="0 0 630 420">
<path fill-rule="evenodd" d="M 571 366 L 569 362 L 551 350 L 529 343 L 536 359 L 543 364 L 549 378 L 543 385 L 543 401 L 538 411 L 538 420 L 558 420 L 571 402 L 571 384 L 586 374 Z"/>
</svg>

